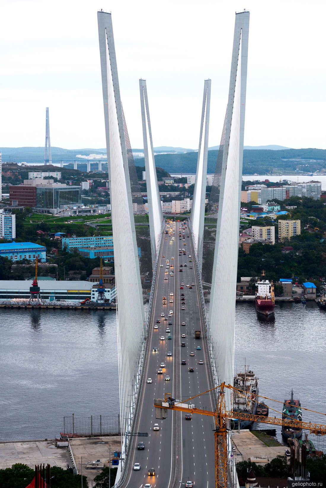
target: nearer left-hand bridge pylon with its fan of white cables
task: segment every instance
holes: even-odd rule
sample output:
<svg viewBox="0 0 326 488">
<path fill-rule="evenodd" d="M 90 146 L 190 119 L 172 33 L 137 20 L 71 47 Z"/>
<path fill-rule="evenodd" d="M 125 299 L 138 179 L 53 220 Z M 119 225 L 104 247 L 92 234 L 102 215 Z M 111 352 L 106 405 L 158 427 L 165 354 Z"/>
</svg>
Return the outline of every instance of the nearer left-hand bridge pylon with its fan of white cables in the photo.
<svg viewBox="0 0 326 488">
<path fill-rule="evenodd" d="M 125 450 L 138 391 L 146 327 L 111 14 L 98 12 L 97 20 L 117 295 L 120 424 Z"/>
</svg>

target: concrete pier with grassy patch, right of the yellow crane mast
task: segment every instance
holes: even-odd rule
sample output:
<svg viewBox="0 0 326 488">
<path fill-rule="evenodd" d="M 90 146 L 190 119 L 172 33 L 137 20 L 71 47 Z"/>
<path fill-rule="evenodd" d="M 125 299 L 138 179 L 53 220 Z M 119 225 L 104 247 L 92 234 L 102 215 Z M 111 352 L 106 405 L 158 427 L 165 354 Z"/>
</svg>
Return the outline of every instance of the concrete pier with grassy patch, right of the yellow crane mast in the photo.
<svg viewBox="0 0 326 488">
<path fill-rule="evenodd" d="M 276 456 L 285 453 L 285 446 L 268 447 L 261 442 L 250 430 L 240 430 L 233 432 L 233 455 L 237 463 L 251 461 L 254 463 L 266 464 Z"/>
</svg>

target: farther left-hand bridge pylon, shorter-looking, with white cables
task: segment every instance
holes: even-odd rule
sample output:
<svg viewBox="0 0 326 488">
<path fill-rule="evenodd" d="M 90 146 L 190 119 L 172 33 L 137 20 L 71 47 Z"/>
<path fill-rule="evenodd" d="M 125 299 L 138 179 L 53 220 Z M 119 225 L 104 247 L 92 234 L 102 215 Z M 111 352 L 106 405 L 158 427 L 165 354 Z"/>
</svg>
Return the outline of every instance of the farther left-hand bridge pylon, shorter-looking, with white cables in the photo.
<svg viewBox="0 0 326 488">
<path fill-rule="evenodd" d="M 154 263 L 156 260 L 156 251 L 158 249 L 161 238 L 163 211 L 157 184 L 146 80 L 139 80 L 139 89 L 143 124 L 148 214 L 150 220 L 150 233 L 152 242 L 152 262 Z"/>
</svg>

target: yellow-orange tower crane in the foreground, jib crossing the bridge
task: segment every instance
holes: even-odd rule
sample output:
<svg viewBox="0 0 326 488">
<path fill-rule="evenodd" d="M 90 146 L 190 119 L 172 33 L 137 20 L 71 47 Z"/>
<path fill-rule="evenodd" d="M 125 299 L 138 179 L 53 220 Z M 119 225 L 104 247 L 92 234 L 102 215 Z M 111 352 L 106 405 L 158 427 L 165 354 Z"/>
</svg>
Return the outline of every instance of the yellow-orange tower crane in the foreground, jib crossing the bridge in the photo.
<svg viewBox="0 0 326 488">
<path fill-rule="evenodd" d="M 227 433 L 230 430 L 230 420 L 231 419 L 238 419 L 241 420 L 249 420 L 251 422 L 261 422 L 263 424 L 272 424 L 278 426 L 286 426 L 286 427 L 294 427 L 300 428 L 303 430 L 309 430 L 310 433 L 316 435 L 326 435 L 326 425 L 322 424 L 312 424 L 311 422 L 302 422 L 299 420 L 294 419 L 280 419 L 276 417 L 264 417 L 262 415 L 252 415 L 250 413 L 244 412 L 235 412 L 233 410 L 227 411 L 225 409 L 225 388 L 229 388 L 231 391 L 239 391 L 232 385 L 226 385 L 225 383 L 221 383 L 214 388 L 211 388 L 207 391 L 202 393 L 198 393 L 193 397 L 188 398 L 180 402 L 179 400 L 175 400 L 171 393 L 165 393 L 164 399 L 155 399 L 154 400 L 154 407 L 155 407 L 155 417 L 156 419 L 166 419 L 168 410 L 176 410 L 179 412 L 186 412 L 186 413 L 199 413 L 200 415 L 207 415 L 210 417 L 214 417 L 214 437 L 215 437 L 215 488 L 227 488 L 227 461 L 228 461 L 228 452 L 227 452 Z M 206 410 L 203 408 L 197 408 L 193 403 L 189 403 L 194 398 L 209 393 L 210 391 L 214 391 L 219 389 L 218 397 L 217 397 L 217 407 L 215 410 Z"/>
</svg>

